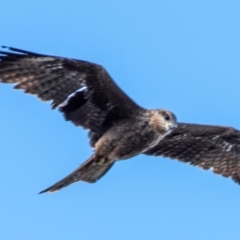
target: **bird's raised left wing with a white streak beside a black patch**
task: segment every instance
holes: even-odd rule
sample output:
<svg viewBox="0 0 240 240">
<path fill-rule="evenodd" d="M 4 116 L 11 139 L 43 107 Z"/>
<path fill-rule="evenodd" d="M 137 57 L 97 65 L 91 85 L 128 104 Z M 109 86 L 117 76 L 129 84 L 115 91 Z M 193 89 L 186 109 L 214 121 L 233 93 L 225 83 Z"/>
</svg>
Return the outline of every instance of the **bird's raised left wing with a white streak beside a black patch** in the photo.
<svg viewBox="0 0 240 240">
<path fill-rule="evenodd" d="M 97 64 L 32 53 L 16 48 L 0 51 L 0 81 L 52 100 L 66 120 L 91 130 L 91 144 L 120 118 L 141 111 Z"/>
</svg>

